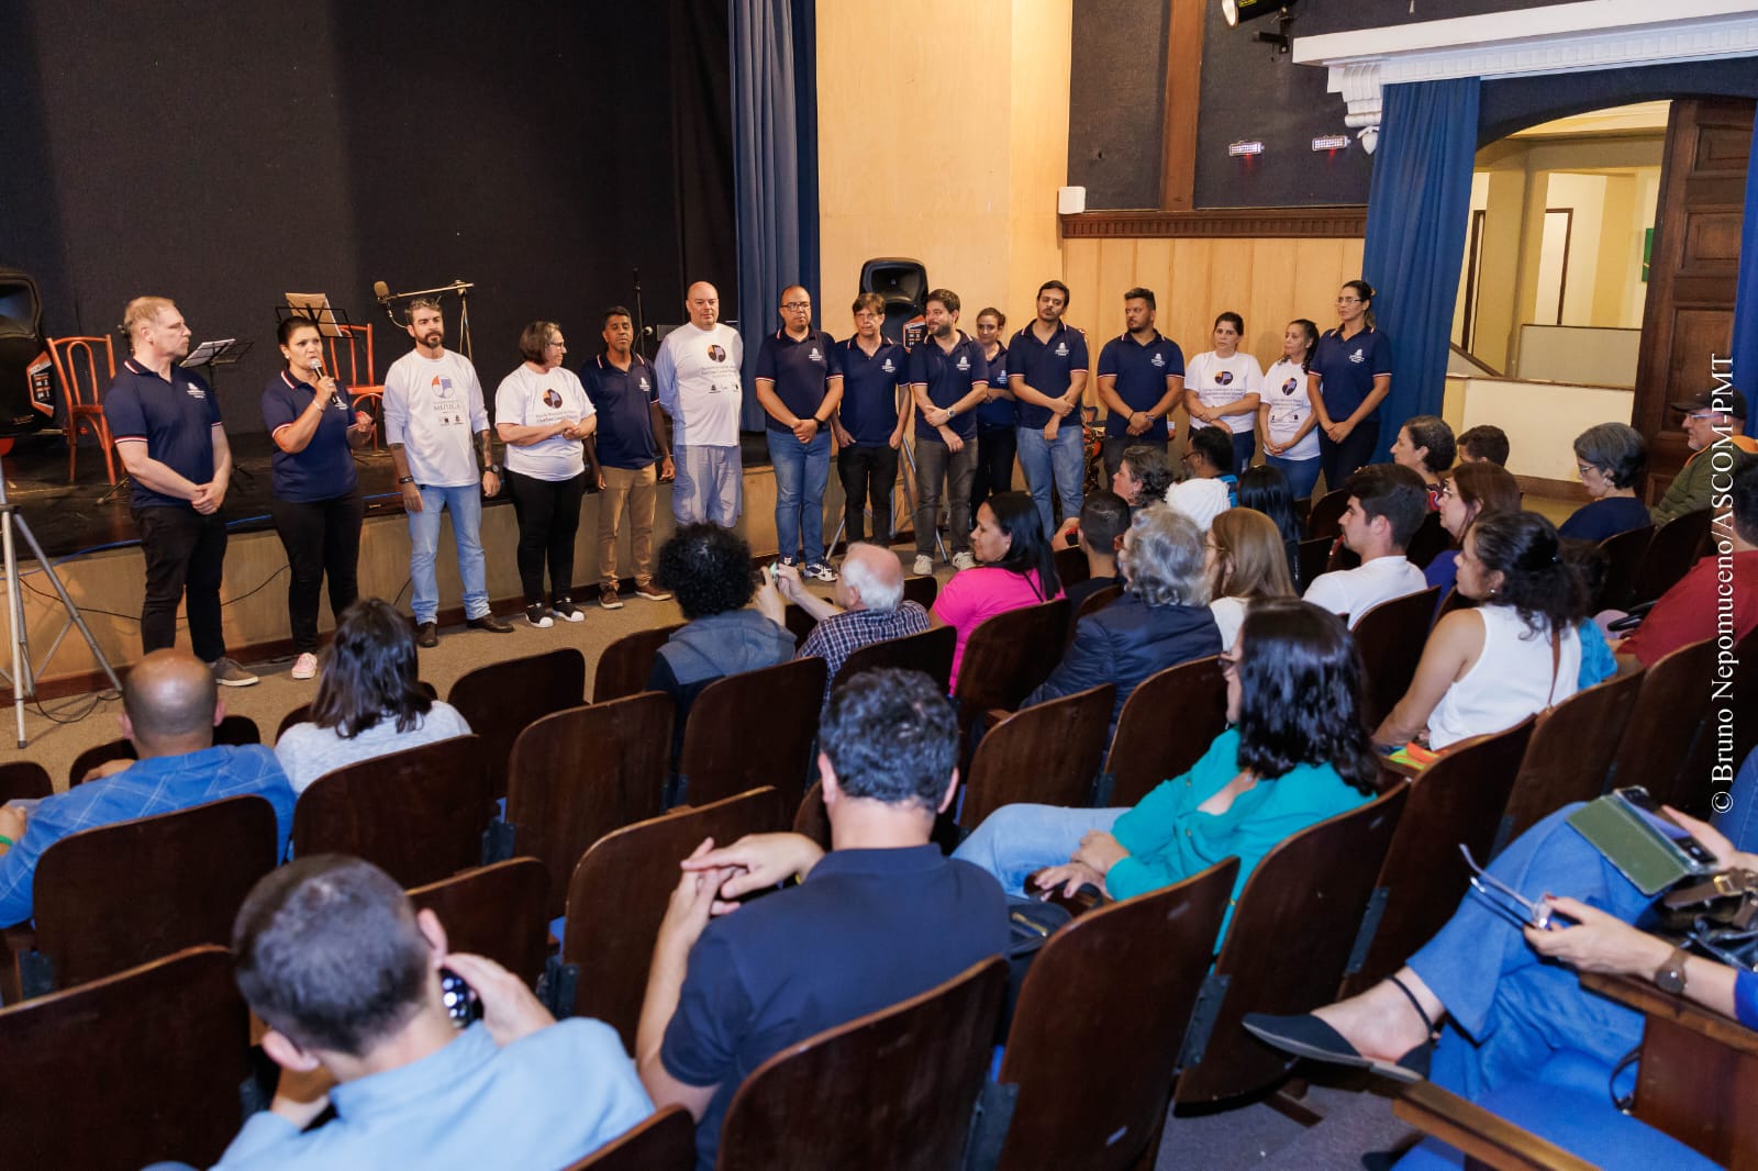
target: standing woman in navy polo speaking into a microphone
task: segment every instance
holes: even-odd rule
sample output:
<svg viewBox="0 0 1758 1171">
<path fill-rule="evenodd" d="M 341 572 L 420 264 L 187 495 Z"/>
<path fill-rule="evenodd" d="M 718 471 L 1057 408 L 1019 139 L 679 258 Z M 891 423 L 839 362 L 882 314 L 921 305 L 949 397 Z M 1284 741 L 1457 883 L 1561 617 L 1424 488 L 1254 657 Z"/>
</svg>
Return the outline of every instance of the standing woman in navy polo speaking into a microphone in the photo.
<svg viewBox="0 0 1758 1171">
<path fill-rule="evenodd" d="M 373 438 L 373 417 L 348 408 L 323 369 L 323 334 L 306 316 L 288 316 L 276 338 L 287 367 L 262 390 L 262 422 L 274 440 L 274 531 L 287 549 L 287 614 L 294 633 L 294 679 L 318 673 L 318 594 L 329 577 L 331 617 L 341 621 L 359 594 L 360 520 L 366 503 L 353 473 L 353 448 Z"/>
</svg>

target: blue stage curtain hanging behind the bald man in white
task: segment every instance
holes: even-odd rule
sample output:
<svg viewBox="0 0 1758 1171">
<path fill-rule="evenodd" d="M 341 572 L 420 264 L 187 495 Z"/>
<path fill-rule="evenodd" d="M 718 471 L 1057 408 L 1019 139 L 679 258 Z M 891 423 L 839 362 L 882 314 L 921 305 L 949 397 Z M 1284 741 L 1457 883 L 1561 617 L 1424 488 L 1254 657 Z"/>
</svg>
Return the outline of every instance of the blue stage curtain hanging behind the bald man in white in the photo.
<svg viewBox="0 0 1758 1171">
<path fill-rule="evenodd" d="M 749 387 L 761 338 L 779 325 L 781 290 L 805 285 L 817 301 L 817 44 L 812 0 L 730 5 L 737 311 Z M 754 394 L 742 424 L 763 427 Z"/>
</svg>

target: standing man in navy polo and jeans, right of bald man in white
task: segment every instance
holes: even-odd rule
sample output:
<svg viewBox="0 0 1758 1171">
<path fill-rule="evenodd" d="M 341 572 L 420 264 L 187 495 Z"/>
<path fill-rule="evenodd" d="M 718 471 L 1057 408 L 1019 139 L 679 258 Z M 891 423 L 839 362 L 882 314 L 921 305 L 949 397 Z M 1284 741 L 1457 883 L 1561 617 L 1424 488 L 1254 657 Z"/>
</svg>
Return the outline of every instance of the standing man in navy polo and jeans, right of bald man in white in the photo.
<svg viewBox="0 0 1758 1171">
<path fill-rule="evenodd" d="M 830 420 L 842 401 L 837 343 L 812 329 L 812 295 L 800 285 L 781 290 L 782 327 L 758 350 L 758 403 L 768 415 L 770 464 L 775 468 L 775 536 L 781 563 L 803 577 L 837 580 L 825 561 L 825 485 L 830 482 Z"/>
</svg>

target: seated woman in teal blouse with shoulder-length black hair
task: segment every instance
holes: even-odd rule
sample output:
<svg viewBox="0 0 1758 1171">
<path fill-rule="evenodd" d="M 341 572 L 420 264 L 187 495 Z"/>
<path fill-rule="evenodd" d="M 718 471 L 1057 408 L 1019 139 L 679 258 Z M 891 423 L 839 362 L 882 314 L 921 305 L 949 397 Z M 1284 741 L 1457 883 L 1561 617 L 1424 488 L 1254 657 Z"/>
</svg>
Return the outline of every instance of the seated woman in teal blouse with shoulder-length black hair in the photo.
<svg viewBox="0 0 1758 1171">
<path fill-rule="evenodd" d="M 1134 809 L 1006 805 L 953 856 L 1013 895 L 1035 874 L 1041 890 L 1092 884 L 1113 898 L 1238 856 L 1238 897 L 1276 842 L 1378 793 L 1361 656 L 1334 614 L 1297 598 L 1257 601 L 1222 666 L 1231 726 L 1190 772 Z"/>
</svg>

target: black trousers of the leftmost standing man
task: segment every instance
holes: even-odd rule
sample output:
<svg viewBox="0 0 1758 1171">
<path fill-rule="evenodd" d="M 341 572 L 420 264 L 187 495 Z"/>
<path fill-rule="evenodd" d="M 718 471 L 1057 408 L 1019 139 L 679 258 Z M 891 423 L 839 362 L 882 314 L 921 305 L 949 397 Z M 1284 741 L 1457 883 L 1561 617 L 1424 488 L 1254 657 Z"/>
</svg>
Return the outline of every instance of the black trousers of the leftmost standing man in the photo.
<svg viewBox="0 0 1758 1171">
<path fill-rule="evenodd" d="M 186 601 L 190 649 L 202 663 L 225 658 L 220 633 L 220 577 L 225 571 L 225 520 L 186 505 L 137 508 L 135 529 L 146 554 L 141 649 L 178 645 L 178 603 Z"/>
</svg>

